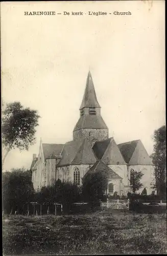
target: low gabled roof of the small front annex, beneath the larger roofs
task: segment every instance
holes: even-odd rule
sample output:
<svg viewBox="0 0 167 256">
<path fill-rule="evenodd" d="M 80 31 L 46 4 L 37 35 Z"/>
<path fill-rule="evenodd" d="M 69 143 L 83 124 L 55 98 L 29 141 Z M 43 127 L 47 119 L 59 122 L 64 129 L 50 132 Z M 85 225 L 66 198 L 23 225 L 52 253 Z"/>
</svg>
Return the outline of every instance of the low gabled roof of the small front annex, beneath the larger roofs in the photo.
<svg viewBox="0 0 167 256">
<path fill-rule="evenodd" d="M 117 175 L 102 160 L 98 160 L 95 164 L 93 164 L 93 166 L 88 170 L 87 173 L 95 173 L 95 172 L 102 172 L 104 175 L 107 176 L 108 179 L 120 179 L 120 180 L 122 180 L 122 178 L 119 175 Z"/>
</svg>

